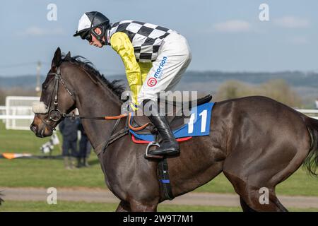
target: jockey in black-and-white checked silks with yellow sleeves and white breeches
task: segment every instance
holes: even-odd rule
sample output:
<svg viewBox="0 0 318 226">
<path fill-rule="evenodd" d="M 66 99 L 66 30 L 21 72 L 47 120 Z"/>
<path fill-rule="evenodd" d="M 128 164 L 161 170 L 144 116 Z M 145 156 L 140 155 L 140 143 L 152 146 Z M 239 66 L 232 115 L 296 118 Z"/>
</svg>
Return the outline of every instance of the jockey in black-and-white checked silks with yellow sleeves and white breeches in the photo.
<svg viewBox="0 0 318 226">
<path fill-rule="evenodd" d="M 175 30 L 151 23 L 122 20 L 110 23 L 102 13 L 84 13 L 75 35 L 90 45 L 110 45 L 124 62 L 132 92 L 132 109 L 151 104 L 149 119 L 163 138 L 151 155 L 177 155 L 179 144 L 165 116 L 159 114 L 158 94 L 175 88 L 192 55 L 187 40 Z M 155 114 L 153 114 L 155 112 Z"/>
</svg>

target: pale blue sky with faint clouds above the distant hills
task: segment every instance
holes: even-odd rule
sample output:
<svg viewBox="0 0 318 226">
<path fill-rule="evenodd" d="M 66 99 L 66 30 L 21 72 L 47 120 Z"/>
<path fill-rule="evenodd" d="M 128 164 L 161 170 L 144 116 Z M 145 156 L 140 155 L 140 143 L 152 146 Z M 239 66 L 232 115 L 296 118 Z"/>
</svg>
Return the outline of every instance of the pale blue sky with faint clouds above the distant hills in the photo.
<svg viewBox="0 0 318 226">
<path fill-rule="evenodd" d="M 50 4 L 57 7 L 57 20 Z M 261 4 L 269 20 L 261 21 Z M 189 71 L 318 71 L 317 0 L 1 1 L 0 76 L 49 71 L 55 49 L 81 55 L 105 75 L 124 74 L 110 47 L 73 37 L 86 11 L 111 22 L 139 20 L 177 30 L 192 49 Z M 263 15 L 263 14 L 262 14 Z"/>
</svg>

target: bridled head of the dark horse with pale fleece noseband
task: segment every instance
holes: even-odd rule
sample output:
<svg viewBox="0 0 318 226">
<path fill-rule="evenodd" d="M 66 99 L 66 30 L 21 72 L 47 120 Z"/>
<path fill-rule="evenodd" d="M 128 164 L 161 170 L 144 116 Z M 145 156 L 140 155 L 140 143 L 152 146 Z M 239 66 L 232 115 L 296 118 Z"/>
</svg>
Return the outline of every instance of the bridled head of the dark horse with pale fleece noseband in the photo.
<svg viewBox="0 0 318 226">
<path fill-rule="evenodd" d="M 71 57 L 67 54 L 66 57 Z M 54 54 L 51 69 L 47 73 L 45 82 L 42 83 L 40 102 L 33 105 L 35 117 L 30 126 L 31 131 L 38 137 L 51 136 L 53 130 L 63 119 L 63 114 L 71 112 L 75 108 L 75 99 L 66 86 L 62 75 L 63 66 L 61 49 L 57 48 Z"/>
</svg>

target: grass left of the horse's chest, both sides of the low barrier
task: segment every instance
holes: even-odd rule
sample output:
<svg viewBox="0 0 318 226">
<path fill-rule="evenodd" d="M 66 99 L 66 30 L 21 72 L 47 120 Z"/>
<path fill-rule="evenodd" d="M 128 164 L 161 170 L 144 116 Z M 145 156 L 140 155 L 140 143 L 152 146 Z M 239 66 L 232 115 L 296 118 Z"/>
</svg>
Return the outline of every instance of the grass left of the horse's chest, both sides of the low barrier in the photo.
<svg viewBox="0 0 318 226">
<path fill-rule="evenodd" d="M 61 141 L 60 133 L 57 132 Z M 49 138 L 37 138 L 31 131 L 4 129 L 0 123 L 0 153 L 32 153 L 42 155 L 40 146 Z M 53 155 L 61 155 L 54 147 Z M 90 168 L 65 170 L 62 160 L 48 159 L 0 159 L 0 186 L 105 187 L 98 157 L 90 155 Z"/>
</svg>

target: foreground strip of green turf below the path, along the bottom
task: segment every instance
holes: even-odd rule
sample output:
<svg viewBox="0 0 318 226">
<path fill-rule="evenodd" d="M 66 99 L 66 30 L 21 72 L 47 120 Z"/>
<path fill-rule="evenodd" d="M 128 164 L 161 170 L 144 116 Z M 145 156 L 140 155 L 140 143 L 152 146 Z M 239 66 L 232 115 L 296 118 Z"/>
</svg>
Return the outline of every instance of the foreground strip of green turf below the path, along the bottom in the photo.
<svg viewBox="0 0 318 226">
<path fill-rule="evenodd" d="M 41 201 L 6 201 L 0 206 L 1 212 L 23 212 L 23 211 L 114 211 L 117 204 L 114 203 L 86 203 L 73 201 L 58 201 L 57 205 L 48 205 Z M 317 208 L 290 208 L 290 211 L 308 211 L 318 212 Z M 159 212 L 242 212 L 240 207 L 220 207 L 220 206 L 177 206 L 177 205 L 159 205 Z"/>
</svg>

